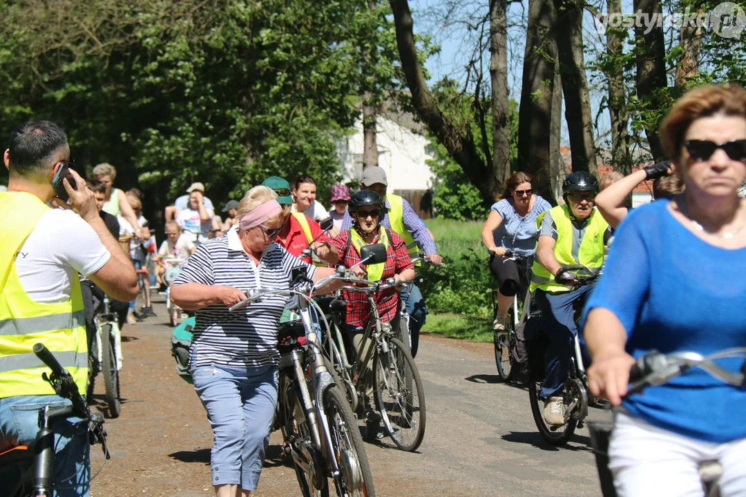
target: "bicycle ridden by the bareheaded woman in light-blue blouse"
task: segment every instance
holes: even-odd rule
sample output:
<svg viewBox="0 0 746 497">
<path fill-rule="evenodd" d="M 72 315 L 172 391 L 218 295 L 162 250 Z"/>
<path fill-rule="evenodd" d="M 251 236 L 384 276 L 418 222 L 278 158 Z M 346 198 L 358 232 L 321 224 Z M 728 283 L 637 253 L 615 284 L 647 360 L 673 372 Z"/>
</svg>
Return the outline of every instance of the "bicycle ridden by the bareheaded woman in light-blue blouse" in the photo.
<svg viewBox="0 0 746 497">
<path fill-rule="evenodd" d="M 525 281 L 530 281 L 531 263 L 533 256 L 521 256 L 521 254 L 507 250 L 503 262 L 515 261 L 518 268 L 522 268 L 527 273 Z M 493 323 L 498 319 L 498 304 L 495 291 L 492 291 L 492 308 Z M 515 366 L 522 364 L 519 359 L 525 357 L 525 342 L 523 330 L 526 327 L 529 317 L 538 317 L 539 311 L 533 310 L 531 306 L 531 291 L 526 289 L 526 294 L 521 300 L 523 308 L 520 308 L 518 294 L 513 296 L 513 303 L 508 309 L 504 329 L 492 329 L 492 343 L 495 346 L 495 365 L 498 367 L 498 373 L 504 382 L 511 382 L 515 379 Z M 522 351 L 519 349 L 523 349 Z"/>
</svg>

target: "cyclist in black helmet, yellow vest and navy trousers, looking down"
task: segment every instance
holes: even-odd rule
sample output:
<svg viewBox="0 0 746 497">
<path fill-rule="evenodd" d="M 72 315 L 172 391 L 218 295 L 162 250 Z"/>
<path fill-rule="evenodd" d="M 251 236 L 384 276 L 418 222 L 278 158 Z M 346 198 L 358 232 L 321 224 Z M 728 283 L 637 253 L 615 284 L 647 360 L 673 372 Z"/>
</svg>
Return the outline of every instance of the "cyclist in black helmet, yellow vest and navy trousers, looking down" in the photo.
<svg viewBox="0 0 746 497">
<path fill-rule="evenodd" d="M 544 419 L 549 425 L 562 425 L 562 389 L 565 387 L 577 326 L 574 303 L 585 299 L 593 284 L 573 289 L 577 281 L 564 265 L 581 264 L 599 270 L 604 262 L 604 244 L 611 235 L 609 224 L 593 206 L 598 180 L 577 171 L 562 182 L 565 204 L 539 215 L 536 225 L 536 259 L 533 262 L 531 291 L 542 311 L 543 329 L 549 346 L 545 355 L 545 379 L 539 396 L 544 401 Z"/>
</svg>

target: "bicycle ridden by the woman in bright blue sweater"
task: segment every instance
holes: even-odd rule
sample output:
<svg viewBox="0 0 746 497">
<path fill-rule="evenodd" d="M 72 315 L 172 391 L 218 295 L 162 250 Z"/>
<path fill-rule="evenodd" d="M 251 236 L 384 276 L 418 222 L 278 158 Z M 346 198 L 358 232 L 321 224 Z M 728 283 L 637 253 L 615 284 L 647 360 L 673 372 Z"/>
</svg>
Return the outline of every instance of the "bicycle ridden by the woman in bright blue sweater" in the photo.
<svg viewBox="0 0 746 497">
<path fill-rule="evenodd" d="M 643 393 L 647 387 L 665 384 L 671 379 L 686 373 L 692 368 L 699 367 L 715 378 L 736 387 L 746 384 L 746 361 L 739 373 L 724 369 L 715 362 L 722 358 L 746 358 L 746 347 L 733 347 L 710 355 L 698 352 L 671 352 L 662 354 L 656 350 L 640 356 L 630 370 L 630 387 L 624 398 L 633 393 Z M 616 497 L 612 472 L 609 469 L 609 438 L 611 437 L 613 422 L 589 422 L 591 445 L 595 453 L 598 478 L 601 481 L 601 493 L 604 497 Z M 700 478 L 705 489 L 706 497 L 718 497 L 718 478 L 722 473 L 720 463 L 716 460 L 705 460 L 699 464 Z"/>
</svg>

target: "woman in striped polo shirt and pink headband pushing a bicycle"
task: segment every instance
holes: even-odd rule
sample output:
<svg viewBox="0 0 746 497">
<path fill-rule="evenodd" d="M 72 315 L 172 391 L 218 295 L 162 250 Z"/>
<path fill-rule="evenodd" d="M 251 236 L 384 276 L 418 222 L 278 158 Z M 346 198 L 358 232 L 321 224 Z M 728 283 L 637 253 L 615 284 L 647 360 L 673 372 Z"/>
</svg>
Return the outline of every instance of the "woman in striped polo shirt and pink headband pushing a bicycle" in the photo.
<svg viewBox="0 0 746 497">
<path fill-rule="evenodd" d="M 213 428 L 210 467 L 218 497 L 248 496 L 257 488 L 277 404 L 278 322 L 290 297 L 228 308 L 251 289 L 286 288 L 297 266 L 306 266 L 313 281 L 334 272 L 280 247 L 277 198 L 266 186 L 246 192 L 238 228 L 199 245 L 171 288 L 173 303 L 196 311 L 189 368 Z"/>
</svg>

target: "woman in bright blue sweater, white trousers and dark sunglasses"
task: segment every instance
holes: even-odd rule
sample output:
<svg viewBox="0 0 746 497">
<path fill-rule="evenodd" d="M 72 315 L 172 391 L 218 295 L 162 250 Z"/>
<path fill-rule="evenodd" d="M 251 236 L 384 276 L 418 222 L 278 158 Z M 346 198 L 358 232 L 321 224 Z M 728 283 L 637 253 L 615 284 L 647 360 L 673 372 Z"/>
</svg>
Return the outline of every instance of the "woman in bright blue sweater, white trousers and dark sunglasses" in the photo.
<svg viewBox="0 0 746 497">
<path fill-rule="evenodd" d="M 589 387 L 615 410 L 609 469 L 620 496 L 703 495 L 698 466 L 718 460 L 722 496 L 746 495 L 746 389 L 692 369 L 627 393 L 636 357 L 746 344 L 746 91 L 703 86 L 660 126 L 685 188 L 630 212 L 586 305 Z M 719 361 L 738 371 L 743 360 Z"/>
</svg>

